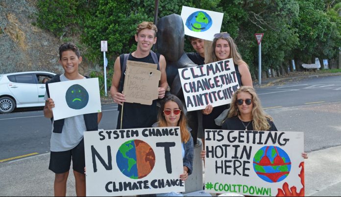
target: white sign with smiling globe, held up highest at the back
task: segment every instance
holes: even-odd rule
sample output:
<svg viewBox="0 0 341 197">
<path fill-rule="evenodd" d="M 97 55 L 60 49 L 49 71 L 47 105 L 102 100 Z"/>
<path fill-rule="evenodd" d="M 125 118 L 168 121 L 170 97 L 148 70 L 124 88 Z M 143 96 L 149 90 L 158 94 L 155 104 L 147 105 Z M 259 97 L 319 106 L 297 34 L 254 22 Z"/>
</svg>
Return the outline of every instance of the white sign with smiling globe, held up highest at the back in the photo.
<svg viewBox="0 0 341 197">
<path fill-rule="evenodd" d="M 220 12 L 182 6 L 185 35 L 213 41 L 214 34 L 220 32 L 223 15 Z"/>
</svg>

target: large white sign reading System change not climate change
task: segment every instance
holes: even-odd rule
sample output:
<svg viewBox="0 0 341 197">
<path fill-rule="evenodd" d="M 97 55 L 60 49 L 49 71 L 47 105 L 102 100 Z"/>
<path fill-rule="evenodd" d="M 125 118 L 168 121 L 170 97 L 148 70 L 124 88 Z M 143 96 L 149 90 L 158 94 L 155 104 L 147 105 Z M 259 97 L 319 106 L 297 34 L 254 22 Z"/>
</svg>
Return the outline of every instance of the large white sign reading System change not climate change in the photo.
<svg viewBox="0 0 341 197">
<path fill-rule="evenodd" d="M 84 132 L 86 195 L 184 192 L 180 127 Z"/>
</svg>

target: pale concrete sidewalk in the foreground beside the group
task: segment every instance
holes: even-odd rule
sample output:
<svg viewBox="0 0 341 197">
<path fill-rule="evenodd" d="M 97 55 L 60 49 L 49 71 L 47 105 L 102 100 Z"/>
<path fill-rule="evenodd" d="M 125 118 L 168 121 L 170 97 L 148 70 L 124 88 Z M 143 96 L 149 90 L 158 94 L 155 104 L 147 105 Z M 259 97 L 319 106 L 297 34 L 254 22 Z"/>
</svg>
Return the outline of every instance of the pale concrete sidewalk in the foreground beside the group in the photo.
<svg viewBox="0 0 341 197">
<path fill-rule="evenodd" d="M 340 196 L 341 146 L 310 152 L 305 160 L 305 196 Z M 0 196 L 53 196 L 49 153 L 0 164 Z M 67 196 L 76 196 L 73 172 Z"/>
</svg>

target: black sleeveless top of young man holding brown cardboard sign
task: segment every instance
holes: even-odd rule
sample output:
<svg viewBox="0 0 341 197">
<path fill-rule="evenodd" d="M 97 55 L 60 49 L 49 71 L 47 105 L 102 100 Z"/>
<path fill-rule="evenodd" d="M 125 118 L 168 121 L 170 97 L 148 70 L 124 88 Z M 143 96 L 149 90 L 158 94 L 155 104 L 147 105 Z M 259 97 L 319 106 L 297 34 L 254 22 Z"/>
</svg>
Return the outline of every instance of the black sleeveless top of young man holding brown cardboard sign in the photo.
<svg viewBox="0 0 341 197">
<path fill-rule="evenodd" d="M 160 54 L 158 54 L 158 53 L 157 53 L 157 58 L 158 58 L 158 60 L 160 59 Z M 121 54 L 120 55 L 121 68 L 123 66 L 123 59 L 124 59 L 124 54 Z M 130 53 L 128 60 L 154 64 L 153 58 L 151 57 L 150 53 L 148 56 L 143 57 L 143 58 L 133 57 Z M 124 73 L 124 75 L 125 75 L 125 73 Z M 123 84 L 124 84 L 124 78 L 123 78 L 123 83 L 120 84 L 119 89 L 121 88 L 121 86 L 123 86 Z M 123 104 L 123 117 L 122 117 L 122 129 L 146 128 L 146 127 L 151 127 L 153 125 L 153 123 L 156 123 L 157 122 L 157 114 L 158 114 L 158 108 L 156 105 L 156 101 L 157 100 L 153 100 L 153 103 L 151 105 L 124 102 L 124 104 Z M 119 105 L 118 110 L 119 110 L 119 116 L 117 118 L 117 129 L 120 129 L 121 128 L 122 105 Z"/>
</svg>

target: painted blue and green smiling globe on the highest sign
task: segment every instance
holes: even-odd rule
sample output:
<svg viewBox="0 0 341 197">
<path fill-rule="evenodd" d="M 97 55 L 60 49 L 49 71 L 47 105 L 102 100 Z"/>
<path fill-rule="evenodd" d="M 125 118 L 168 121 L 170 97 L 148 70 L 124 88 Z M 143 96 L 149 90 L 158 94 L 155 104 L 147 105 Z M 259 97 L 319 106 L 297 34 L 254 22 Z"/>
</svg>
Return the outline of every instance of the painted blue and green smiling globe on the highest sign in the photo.
<svg viewBox="0 0 341 197">
<path fill-rule="evenodd" d="M 212 19 L 206 12 L 197 11 L 187 18 L 186 26 L 195 32 L 206 31 L 212 26 Z"/>
</svg>

